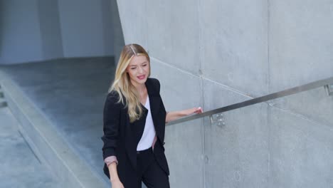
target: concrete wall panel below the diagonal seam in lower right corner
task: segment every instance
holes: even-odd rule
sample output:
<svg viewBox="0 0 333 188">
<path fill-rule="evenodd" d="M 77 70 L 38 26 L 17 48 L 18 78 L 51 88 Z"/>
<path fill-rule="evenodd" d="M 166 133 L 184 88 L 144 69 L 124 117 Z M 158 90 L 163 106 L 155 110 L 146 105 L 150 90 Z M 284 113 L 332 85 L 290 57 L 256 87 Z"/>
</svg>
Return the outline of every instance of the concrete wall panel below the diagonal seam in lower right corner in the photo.
<svg viewBox="0 0 333 188">
<path fill-rule="evenodd" d="M 269 187 L 333 187 L 333 130 L 270 108 Z"/>
</svg>

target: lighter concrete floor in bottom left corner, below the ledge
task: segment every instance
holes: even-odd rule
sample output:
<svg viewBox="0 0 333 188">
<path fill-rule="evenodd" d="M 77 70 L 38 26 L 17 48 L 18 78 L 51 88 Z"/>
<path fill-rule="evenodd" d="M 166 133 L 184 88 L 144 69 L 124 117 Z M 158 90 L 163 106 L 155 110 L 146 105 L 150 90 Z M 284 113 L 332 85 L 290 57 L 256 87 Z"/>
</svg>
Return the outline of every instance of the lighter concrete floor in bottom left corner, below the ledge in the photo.
<svg viewBox="0 0 333 188">
<path fill-rule="evenodd" d="M 50 172 L 18 132 L 9 108 L 0 108 L 0 187 L 58 187 Z"/>
</svg>

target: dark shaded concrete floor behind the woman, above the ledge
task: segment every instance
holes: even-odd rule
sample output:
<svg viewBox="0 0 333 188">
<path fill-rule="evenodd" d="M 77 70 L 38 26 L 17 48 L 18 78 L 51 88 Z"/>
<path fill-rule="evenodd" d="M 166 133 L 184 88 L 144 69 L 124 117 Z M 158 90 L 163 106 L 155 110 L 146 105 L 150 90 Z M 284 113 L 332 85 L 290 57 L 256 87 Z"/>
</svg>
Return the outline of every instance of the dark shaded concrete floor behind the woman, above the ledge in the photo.
<svg viewBox="0 0 333 188">
<path fill-rule="evenodd" d="M 113 58 L 71 58 L 0 68 L 53 122 L 68 145 L 107 181 L 102 172 L 100 137 L 102 109 L 115 72 Z"/>
</svg>

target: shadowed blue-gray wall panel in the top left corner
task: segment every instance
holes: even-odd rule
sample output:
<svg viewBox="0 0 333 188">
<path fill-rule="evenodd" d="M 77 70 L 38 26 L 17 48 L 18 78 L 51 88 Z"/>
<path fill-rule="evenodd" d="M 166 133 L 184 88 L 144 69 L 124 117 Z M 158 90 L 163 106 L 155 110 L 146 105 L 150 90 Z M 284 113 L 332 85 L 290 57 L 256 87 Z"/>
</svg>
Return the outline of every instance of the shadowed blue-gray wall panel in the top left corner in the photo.
<svg viewBox="0 0 333 188">
<path fill-rule="evenodd" d="M 0 64 L 43 59 L 37 1 L 1 1 Z"/>
</svg>

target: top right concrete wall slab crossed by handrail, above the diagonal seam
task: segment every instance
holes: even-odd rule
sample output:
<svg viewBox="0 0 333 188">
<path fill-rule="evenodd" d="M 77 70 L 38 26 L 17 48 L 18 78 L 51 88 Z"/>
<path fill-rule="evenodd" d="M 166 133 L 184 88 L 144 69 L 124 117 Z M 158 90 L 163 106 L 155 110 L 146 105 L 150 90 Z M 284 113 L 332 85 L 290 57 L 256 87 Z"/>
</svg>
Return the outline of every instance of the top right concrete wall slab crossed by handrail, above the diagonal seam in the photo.
<svg viewBox="0 0 333 188">
<path fill-rule="evenodd" d="M 333 2 L 270 2 L 270 93 L 333 75 Z M 274 101 L 333 127 L 333 98 L 324 87 Z"/>
</svg>

